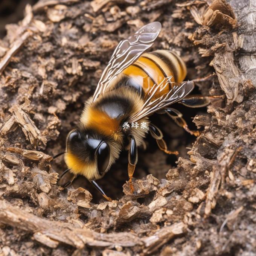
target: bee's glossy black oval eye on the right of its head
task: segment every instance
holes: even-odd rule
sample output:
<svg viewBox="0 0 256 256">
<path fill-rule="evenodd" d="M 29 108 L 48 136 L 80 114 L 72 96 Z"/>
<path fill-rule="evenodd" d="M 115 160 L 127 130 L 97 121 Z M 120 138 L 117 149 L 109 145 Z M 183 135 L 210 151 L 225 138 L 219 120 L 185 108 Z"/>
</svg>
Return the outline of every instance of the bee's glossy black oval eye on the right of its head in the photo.
<svg viewBox="0 0 256 256">
<path fill-rule="evenodd" d="M 110 159 L 110 150 L 107 143 L 102 142 L 96 151 L 96 160 L 98 165 L 98 172 L 100 175 L 107 169 L 109 159 Z"/>
</svg>

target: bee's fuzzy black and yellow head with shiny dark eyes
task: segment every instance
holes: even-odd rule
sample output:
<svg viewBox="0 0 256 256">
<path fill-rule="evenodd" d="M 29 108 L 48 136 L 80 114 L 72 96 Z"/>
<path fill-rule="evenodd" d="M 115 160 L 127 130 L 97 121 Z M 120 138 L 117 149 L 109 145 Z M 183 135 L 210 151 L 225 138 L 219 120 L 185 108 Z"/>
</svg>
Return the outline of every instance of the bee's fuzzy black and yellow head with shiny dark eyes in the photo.
<svg viewBox="0 0 256 256">
<path fill-rule="evenodd" d="M 106 140 L 106 139 L 105 139 Z M 65 161 L 74 174 L 101 178 L 110 168 L 110 146 L 93 131 L 72 130 L 67 136 Z"/>
</svg>

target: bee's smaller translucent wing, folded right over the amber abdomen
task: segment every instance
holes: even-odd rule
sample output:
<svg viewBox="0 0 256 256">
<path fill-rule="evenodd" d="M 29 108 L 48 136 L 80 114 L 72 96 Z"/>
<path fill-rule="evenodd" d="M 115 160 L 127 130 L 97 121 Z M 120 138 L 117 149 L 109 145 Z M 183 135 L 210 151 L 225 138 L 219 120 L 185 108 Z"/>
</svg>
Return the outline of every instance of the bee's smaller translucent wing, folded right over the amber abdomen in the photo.
<svg viewBox="0 0 256 256">
<path fill-rule="evenodd" d="M 159 85 L 154 84 L 147 94 L 142 109 L 131 117 L 131 122 L 137 122 L 143 117 L 150 116 L 154 112 L 161 110 L 162 108 L 168 107 L 177 101 L 180 101 L 187 96 L 194 89 L 193 81 L 185 81 L 181 83 L 175 83 L 170 81 L 171 76 L 168 78 L 167 83 L 171 84 L 171 90 L 162 96 L 156 97 L 155 94 L 159 93 L 159 90 L 166 83 L 163 80 Z"/>
</svg>

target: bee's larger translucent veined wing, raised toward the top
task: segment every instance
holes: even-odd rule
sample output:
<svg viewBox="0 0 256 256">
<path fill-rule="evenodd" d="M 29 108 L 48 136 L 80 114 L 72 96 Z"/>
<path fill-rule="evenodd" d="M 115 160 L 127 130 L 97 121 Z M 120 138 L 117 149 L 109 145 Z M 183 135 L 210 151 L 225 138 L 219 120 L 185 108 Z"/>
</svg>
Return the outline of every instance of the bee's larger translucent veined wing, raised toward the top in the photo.
<svg viewBox="0 0 256 256">
<path fill-rule="evenodd" d="M 158 21 L 146 24 L 128 39 L 120 41 L 102 73 L 93 95 L 93 101 L 98 98 L 99 94 L 107 90 L 114 76 L 133 64 L 146 49 L 152 46 L 161 27 L 161 23 Z"/>
</svg>

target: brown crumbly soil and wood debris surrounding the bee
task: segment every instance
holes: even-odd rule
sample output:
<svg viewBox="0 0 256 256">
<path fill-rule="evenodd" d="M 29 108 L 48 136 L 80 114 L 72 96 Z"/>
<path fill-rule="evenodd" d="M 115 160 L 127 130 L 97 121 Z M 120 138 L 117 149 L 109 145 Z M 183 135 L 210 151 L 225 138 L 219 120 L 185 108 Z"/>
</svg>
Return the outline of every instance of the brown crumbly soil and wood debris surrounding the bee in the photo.
<svg viewBox="0 0 256 256">
<path fill-rule="evenodd" d="M 6 25 L 0 255 L 255 255 L 255 8 L 237 0 L 41 0 Z M 162 23 L 152 50 L 183 58 L 193 94 L 223 96 L 207 108 L 173 105 L 199 137 L 168 116 L 150 117 L 179 155 L 148 136 L 135 195 L 127 152 L 99 181 L 113 201 L 83 177 L 63 189 L 64 159 L 51 156 L 65 151 L 119 41 L 152 21 Z"/>
</svg>

